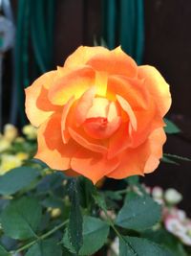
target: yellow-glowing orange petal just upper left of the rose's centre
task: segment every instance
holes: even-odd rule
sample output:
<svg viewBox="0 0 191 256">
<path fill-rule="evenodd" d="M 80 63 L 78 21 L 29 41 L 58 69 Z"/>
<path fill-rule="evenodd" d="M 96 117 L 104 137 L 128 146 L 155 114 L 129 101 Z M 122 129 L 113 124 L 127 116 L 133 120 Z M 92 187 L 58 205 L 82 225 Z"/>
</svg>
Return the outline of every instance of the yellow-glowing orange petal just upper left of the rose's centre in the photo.
<svg viewBox="0 0 191 256">
<path fill-rule="evenodd" d="M 74 95 L 75 100 L 95 84 L 96 73 L 89 66 L 82 66 L 54 81 L 49 99 L 55 105 L 65 105 Z"/>
</svg>

